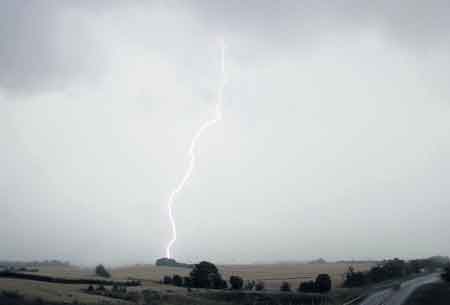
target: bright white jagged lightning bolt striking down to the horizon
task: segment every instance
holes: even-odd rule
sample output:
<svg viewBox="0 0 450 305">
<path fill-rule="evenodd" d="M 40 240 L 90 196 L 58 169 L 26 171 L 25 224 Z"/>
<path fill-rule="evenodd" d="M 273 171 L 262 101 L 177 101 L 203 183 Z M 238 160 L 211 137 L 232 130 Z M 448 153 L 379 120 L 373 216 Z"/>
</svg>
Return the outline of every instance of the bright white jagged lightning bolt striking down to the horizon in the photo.
<svg viewBox="0 0 450 305">
<path fill-rule="evenodd" d="M 172 238 L 170 239 L 170 241 L 166 247 L 166 257 L 167 258 L 172 257 L 171 249 L 172 249 L 173 244 L 177 240 L 177 226 L 175 223 L 175 218 L 173 216 L 173 204 L 174 204 L 175 198 L 177 197 L 178 193 L 180 193 L 183 190 L 184 186 L 186 185 L 186 182 L 191 177 L 192 171 L 195 168 L 195 147 L 197 146 L 197 142 L 200 139 L 200 137 L 202 136 L 202 134 L 208 128 L 210 128 L 211 126 L 213 126 L 214 124 L 216 124 L 220 120 L 222 120 L 223 91 L 225 89 L 225 83 L 226 83 L 226 79 L 225 79 L 225 42 L 224 42 L 224 40 L 220 39 L 219 44 L 220 44 L 221 79 L 220 79 L 220 84 L 219 84 L 219 87 L 217 90 L 217 102 L 215 105 L 214 117 L 211 120 L 204 122 L 200 126 L 200 128 L 197 130 L 197 132 L 194 134 L 194 137 L 191 140 L 191 145 L 189 146 L 189 151 L 188 151 L 189 165 L 186 169 L 186 172 L 185 172 L 183 178 L 178 183 L 178 185 L 173 189 L 173 191 L 170 193 L 169 199 L 167 201 L 167 208 L 169 211 L 169 220 L 170 220 L 170 225 L 172 228 Z"/>
</svg>

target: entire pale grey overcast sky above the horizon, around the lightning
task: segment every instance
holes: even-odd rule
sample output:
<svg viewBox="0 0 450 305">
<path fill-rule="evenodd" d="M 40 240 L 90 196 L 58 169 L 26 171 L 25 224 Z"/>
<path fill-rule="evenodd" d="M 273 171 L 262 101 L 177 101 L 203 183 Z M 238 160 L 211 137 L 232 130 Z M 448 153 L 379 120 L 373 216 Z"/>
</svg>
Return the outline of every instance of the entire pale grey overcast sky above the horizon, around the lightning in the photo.
<svg viewBox="0 0 450 305">
<path fill-rule="evenodd" d="M 450 254 L 443 1 L 0 2 L 0 259 Z"/>
</svg>

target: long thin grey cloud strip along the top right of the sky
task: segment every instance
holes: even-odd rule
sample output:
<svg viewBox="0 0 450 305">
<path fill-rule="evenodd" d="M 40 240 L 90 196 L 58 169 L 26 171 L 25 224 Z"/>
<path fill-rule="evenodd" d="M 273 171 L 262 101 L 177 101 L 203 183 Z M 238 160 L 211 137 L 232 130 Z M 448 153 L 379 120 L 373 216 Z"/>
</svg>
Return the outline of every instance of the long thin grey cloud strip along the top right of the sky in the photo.
<svg viewBox="0 0 450 305">
<path fill-rule="evenodd" d="M 448 43 L 450 3 L 432 1 L 195 1 L 207 24 L 267 44 L 292 43 L 345 28 L 376 28 L 400 42 Z"/>
</svg>

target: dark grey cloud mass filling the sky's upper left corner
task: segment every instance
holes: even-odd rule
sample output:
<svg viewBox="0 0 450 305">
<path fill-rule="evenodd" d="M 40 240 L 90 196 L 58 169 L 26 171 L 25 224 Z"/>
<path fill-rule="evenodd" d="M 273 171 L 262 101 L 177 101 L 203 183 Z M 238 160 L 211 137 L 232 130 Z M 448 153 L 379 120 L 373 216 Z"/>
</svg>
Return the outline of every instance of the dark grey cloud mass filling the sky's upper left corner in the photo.
<svg viewBox="0 0 450 305">
<path fill-rule="evenodd" d="M 101 65 L 101 56 L 87 20 L 62 2 L 2 1 L 0 86 L 29 94 L 88 77 Z"/>
</svg>

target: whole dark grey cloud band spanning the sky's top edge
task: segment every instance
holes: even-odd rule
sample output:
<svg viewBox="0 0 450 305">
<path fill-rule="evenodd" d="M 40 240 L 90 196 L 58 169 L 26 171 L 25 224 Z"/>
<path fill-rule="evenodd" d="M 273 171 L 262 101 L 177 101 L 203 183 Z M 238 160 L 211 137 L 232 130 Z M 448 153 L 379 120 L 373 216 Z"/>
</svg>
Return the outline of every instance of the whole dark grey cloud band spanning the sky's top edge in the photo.
<svg viewBox="0 0 450 305">
<path fill-rule="evenodd" d="M 56 89 L 95 75 L 104 54 L 91 21 L 105 11 L 151 12 L 155 6 L 188 11 L 230 40 L 259 44 L 261 54 L 286 51 L 286 45 L 308 45 L 339 29 L 373 28 L 393 41 L 419 48 L 447 45 L 450 37 L 450 4 L 441 0 L 133 1 L 126 5 L 116 1 L 2 1 L 0 5 L 0 87 L 16 93 Z"/>
</svg>

